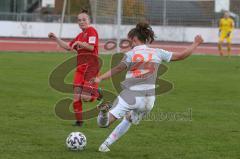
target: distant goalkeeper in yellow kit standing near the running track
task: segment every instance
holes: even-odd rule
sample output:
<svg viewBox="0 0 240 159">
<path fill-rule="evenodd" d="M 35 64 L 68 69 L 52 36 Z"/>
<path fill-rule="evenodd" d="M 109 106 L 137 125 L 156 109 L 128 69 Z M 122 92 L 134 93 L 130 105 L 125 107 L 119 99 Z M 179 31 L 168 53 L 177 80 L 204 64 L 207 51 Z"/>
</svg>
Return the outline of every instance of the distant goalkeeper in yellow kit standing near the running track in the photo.
<svg viewBox="0 0 240 159">
<path fill-rule="evenodd" d="M 228 55 L 231 55 L 231 41 L 232 41 L 232 31 L 234 29 L 234 21 L 230 18 L 229 13 L 226 12 L 224 17 L 219 21 L 219 43 L 218 49 L 221 56 L 223 56 L 222 52 L 222 43 L 226 39 L 227 41 L 227 50 Z"/>
</svg>

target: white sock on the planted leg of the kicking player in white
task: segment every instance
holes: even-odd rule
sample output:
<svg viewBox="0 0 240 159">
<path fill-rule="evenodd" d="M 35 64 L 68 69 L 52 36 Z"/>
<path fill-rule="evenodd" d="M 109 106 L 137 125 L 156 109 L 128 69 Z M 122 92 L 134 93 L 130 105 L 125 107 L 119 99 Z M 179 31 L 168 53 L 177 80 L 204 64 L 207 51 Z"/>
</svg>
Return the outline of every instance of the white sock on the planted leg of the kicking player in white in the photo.
<svg viewBox="0 0 240 159">
<path fill-rule="evenodd" d="M 107 147 L 112 145 L 115 141 L 117 141 L 122 135 L 124 135 L 128 129 L 130 128 L 131 123 L 127 119 L 123 119 L 121 123 L 113 130 L 113 132 L 109 135 L 109 137 L 104 141 Z"/>
</svg>

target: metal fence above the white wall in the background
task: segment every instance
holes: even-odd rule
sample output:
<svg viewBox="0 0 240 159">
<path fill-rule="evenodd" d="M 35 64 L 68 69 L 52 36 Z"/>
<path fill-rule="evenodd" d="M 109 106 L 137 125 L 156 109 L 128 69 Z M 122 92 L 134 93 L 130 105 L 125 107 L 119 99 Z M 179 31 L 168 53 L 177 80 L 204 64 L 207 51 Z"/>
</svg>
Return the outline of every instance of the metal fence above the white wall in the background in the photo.
<svg viewBox="0 0 240 159">
<path fill-rule="evenodd" d="M 96 24 L 117 24 L 117 0 L 92 0 L 91 17 Z M 240 0 L 231 0 L 231 11 L 239 26 Z M 214 12 L 214 0 L 122 0 L 124 25 L 147 20 L 152 25 L 216 27 L 221 13 Z M 40 13 L 1 13 L 0 20 L 60 22 L 61 15 Z M 65 23 L 76 16 L 66 15 Z"/>
</svg>

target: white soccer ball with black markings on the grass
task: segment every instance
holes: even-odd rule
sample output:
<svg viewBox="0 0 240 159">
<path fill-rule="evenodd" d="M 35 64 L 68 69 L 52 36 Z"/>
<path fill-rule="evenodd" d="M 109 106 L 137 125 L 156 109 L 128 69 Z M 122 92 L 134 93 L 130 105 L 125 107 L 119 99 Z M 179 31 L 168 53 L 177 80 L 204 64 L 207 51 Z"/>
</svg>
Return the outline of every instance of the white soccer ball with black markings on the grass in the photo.
<svg viewBox="0 0 240 159">
<path fill-rule="evenodd" d="M 84 150 L 87 145 L 87 138 L 81 132 L 72 132 L 66 139 L 66 145 L 70 150 L 81 151 Z"/>
</svg>

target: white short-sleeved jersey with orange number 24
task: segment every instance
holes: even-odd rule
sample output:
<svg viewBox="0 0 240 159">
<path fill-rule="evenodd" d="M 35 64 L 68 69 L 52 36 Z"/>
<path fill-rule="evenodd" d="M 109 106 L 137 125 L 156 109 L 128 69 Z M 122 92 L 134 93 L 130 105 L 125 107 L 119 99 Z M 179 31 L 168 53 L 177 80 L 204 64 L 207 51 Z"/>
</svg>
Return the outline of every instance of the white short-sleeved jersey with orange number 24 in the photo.
<svg viewBox="0 0 240 159">
<path fill-rule="evenodd" d="M 171 58 L 172 53 L 162 49 L 149 48 L 146 45 L 134 47 L 122 60 L 128 67 L 125 81 L 122 82 L 123 88 L 136 90 L 155 88 L 159 65 L 163 61 L 170 62 Z"/>
</svg>

